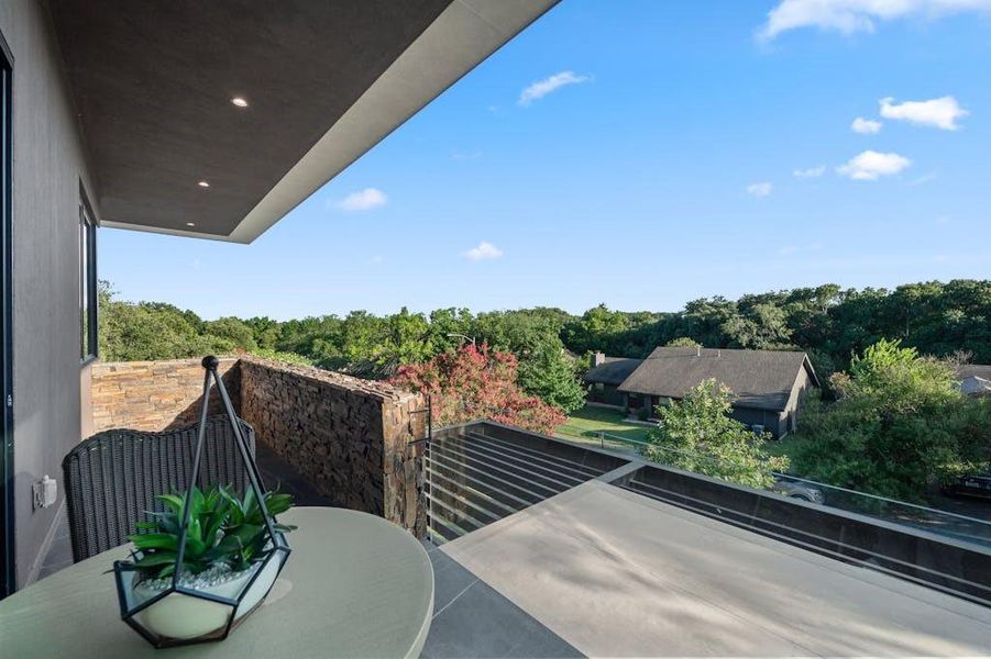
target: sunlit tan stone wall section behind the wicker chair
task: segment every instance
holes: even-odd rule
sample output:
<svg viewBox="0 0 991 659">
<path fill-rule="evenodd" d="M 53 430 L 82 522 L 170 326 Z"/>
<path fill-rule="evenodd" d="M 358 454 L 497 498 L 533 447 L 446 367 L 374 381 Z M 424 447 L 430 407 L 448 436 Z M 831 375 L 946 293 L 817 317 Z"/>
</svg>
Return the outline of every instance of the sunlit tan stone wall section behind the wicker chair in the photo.
<svg viewBox="0 0 991 659">
<path fill-rule="evenodd" d="M 109 428 L 165 431 L 196 423 L 203 393 L 200 359 L 172 361 L 121 361 L 91 367 L 92 432 Z M 240 409 L 240 368 L 236 357 L 220 360 L 231 402 Z M 210 414 L 222 404 L 214 392 Z"/>
</svg>

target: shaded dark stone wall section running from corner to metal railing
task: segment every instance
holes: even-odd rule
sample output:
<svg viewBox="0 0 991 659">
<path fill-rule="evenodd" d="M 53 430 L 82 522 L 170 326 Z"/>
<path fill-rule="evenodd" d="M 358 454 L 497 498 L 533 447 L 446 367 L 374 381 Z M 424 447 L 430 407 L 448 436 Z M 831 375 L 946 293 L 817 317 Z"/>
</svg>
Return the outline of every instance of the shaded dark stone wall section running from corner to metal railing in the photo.
<svg viewBox="0 0 991 659">
<path fill-rule="evenodd" d="M 383 382 L 241 359 L 241 416 L 319 491 L 426 535 L 423 400 Z"/>
</svg>

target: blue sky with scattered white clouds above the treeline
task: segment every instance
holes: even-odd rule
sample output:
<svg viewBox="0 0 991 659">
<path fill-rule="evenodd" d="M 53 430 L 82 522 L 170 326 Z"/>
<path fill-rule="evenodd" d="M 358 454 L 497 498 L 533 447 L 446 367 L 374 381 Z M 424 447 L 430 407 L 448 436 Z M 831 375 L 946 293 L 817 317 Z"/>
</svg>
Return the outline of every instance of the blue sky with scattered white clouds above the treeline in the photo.
<svg viewBox="0 0 991 659">
<path fill-rule="evenodd" d="M 207 319 L 991 278 L 991 0 L 563 0 L 251 245 L 101 228 Z"/>
</svg>

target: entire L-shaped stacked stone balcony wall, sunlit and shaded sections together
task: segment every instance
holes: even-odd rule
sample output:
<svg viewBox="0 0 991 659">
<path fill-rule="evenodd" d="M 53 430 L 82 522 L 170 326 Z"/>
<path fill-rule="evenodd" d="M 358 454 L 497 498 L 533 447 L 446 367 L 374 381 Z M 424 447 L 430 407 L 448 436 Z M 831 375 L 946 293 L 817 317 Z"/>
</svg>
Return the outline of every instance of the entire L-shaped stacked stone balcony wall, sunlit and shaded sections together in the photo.
<svg viewBox="0 0 991 659">
<path fill-rule="evenodd" d="M 340 505 L 381 515 L 423 537 L 423 400 L 383 382 L 245 356 L 220 371 L 257 440 Z M 200 359 L 96 364 L 93 433 L 164 431 L 198 420 Z M 220 398 L 210 413 L 222 412 Z"/>
</svg>

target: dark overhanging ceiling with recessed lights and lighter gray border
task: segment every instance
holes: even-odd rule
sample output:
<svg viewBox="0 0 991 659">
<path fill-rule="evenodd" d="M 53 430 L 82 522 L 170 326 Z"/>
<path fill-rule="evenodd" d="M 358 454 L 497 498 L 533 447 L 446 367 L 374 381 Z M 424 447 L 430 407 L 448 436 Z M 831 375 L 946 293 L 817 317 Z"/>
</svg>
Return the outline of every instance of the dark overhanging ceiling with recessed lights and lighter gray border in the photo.
<svg viewBox="0 0 991 659">
<path fill-rule="evenodd" d="M 250 243 L 555 2 L 48 7 L 102 224 Z"/>
</svg>

